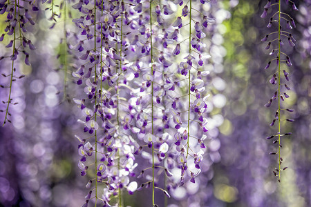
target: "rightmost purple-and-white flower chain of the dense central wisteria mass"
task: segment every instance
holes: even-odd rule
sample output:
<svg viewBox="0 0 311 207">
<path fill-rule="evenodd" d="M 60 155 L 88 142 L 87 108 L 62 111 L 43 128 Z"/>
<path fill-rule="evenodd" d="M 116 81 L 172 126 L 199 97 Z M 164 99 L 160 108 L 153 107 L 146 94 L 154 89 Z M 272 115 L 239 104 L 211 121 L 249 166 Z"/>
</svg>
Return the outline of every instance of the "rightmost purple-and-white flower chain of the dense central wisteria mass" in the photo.
<svg viewBox="0 0 311 207">
<path fill-rule="evenodd" d="M 200 39 L 203 39 L 206 35 L 203 32 L 203 28 L 207 27 L 207 17 L 196 10 L 196 6 L 199 8 L 199 5 L 194 5 L 192 1 L 189 1 L 188 5 L 184 5 L 182 1 L 176 1 L 175 3 L 182 6 L 182 14 L 174 21 L 173 27 L 175 30 L 168 36 L 169 39 L 176 41 L 172 55 L 179 55 L 182 51 L 182 45 L 187 46 L 187 41 L 189 43 L 188 52 L 181 54 L 184 55 L 183 59 L 185 61 L 181 61 L 178 64 L 178 75 L 172 74 L 170 79 L 166 79 L 169 82 L 166 88 L 173 100 L 169 112 L 173 120 L 173 127 L 176 129 L 174 144 L 178 151 L 178 157 L 176 159 L 181 168 L 182 176 L 180 184 L 182 185 L 184 176 L 186 175 L 185 172 L 187 169 L 189 170 L 188 158 L 193 159 L 193 164 L 190 164 L 191 169 L 189 172 L 191 176 L 190 181 L 195 182 L 194 177 L 200 173 L 200 161 L 202 161 L 203 154 L 203 150 L 199 149 L 205 148 L 202 141 L 206 137 L 204 132 L 207 132 L 207 120 L 204 115 L 205 109 L 207 108 L 207 104 L 205 103 L 207 97 L 201 97 L 201 92 L 205 89 L 202 76 L 207 75 L 207 72 L 204 72 L 201 68 L 205 60 L 202 59 L 201 55 L 204 49 L 200 43 Z M 201 1 L 200 3 L 205 3 L 205 1 Z M 199 21 L 196 21 L 196 19 Z M 186 26 L 183 27 L 182 24 Z M 178 39 L 178 33 L 182 32 L 183 29 L 187 30 L 187 28 L 189 32 L 187 41 L 180 41 Z M 192 33 L 193 29 L 195 29 L 195 33 Z M 179 90 L 182 87 L 188 88 L 186 96 Z M 194 119 L 191 119 L 191 115 L 194 116 Z M 201 128 L 202 131 L 195 132 L 191 130 L 196 127 Z M 198 141 L 199 148 L 194 144 L 196 141 Z"/>
</svg>

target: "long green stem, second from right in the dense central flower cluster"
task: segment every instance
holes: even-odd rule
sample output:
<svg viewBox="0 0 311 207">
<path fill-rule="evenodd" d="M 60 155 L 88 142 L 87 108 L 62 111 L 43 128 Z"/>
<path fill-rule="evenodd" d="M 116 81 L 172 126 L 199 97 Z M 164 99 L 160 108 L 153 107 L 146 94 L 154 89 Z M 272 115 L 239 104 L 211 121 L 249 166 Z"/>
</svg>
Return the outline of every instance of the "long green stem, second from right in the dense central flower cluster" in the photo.
<svg viewBox="0 0 311 207">
<path fill-rule="evenodd" d="M 150 0 L 149 5 L 149 14 L 150 14 L 150 56 L 151 56 L 151 77 L 153 77 L 153 52 L 152 52 L 152 0 Z M 151 81 L 151 132 L 153 135 L 153 79 Z M 154 144 L 152 143 L 152 205 L 155 205 L 154 202 Z"/>
</svg>

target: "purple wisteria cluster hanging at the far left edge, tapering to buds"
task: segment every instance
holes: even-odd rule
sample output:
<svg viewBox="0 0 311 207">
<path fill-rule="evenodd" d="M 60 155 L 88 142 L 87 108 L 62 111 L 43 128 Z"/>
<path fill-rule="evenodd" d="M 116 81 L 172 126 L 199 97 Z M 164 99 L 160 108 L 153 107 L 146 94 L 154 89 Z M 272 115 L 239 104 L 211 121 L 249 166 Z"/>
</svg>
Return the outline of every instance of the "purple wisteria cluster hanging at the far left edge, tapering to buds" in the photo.
<svg viewBox="0 0 311 207">
<path fill-rule="evenodd" d="M 1 74 L 3 77 L 8 77 L 10 79 L 10 83 L 8 83 L 9 86 L 1 85 L 1 88 L 9 88 L 8 101 L 3 101 L 3 103 L 6 104 L 6 115 L 3 125 L 6 124 L 6 121 L 11 122 L 9 119 L 10 104 L 17 104 L 17 102 L 13 103 L 13 99 L 11 98 L 12 82 L 24 77 L 24 75 L 17 76 L 15 73 L 17 67 L 16 62 L 21 59 L 19 54 L 23 53 L 25 57 L 24 63 L 30 66 L 28 50 L 35 50 L 35 46 L 29 38 L 30 34 L 28 34 L 28 30 L 31 30 L 30 25 L 35 25 L 35 13 L 38 10 L 38 3 L 36 1 L 28 1 L 27 3 L 24 1 L 19 2 L 19 0 L 0 1 L 0 14 L 6 14 L 7 24 L 4 30 L 5 33 L 0 36 L 0 41 L 8 42 L 6 45 L 6 48 L 8 49 L 7 51 L 1 53 L 3 56 L 0 57 L 0 61 L 11 61 L 10 72 L 3 72 Z M 9 53 L 8 50 L 10 49 L 11 51 Z"/>
</svg>

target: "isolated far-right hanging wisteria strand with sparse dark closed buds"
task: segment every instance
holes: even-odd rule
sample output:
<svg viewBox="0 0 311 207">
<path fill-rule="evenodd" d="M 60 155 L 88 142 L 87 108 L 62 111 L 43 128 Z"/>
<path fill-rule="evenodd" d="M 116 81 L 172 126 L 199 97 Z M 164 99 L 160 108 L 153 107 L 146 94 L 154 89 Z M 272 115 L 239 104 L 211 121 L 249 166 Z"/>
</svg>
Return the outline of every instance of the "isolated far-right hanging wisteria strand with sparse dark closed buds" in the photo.
<svg viewBox="0 0 311 207">
<path fill-rule="evenodd" d="M 287 5 L 290 4 L 290 6 L 292 6 L 292 10 L 298 11 L 298 8 L 296 8 L 296 5 L 293 1 L 286 0 L 285 3 Z M 281 137 L 292 134 L 292 132 L 281 133 L 281 121 L 294 121 L 294 119 L 287 118 L 287 115 L 285 114 L 285 111 L 293 112 L 294 110 L 290 108 L 284 108 L 282 103 L 283 101 L 285 101 L 285 99 L 288 99 L 290 97 L 287 93 L 287 91 L 290 90 L 290 87 L 288 86 L 288 83 L 286 83 L 290 81 L 290 74 L 284 68 L 286 66 L 292 66 L 292 61 L 290 61 L 290 57 L 283 51 L 286 51 L 284 48 L 284 42 L 287 42 L 288 46 L 290 47 L 295 46 L 296 39 L 294 39 L 292 33 L 288 31 L 292 30 L 292 28 L 296 28 L 296 24 L 294 22 L 294 19 L 290 17 L 290 14 L 281 12 L 280 0 L 277 3 L 273 4 L 270 0 L 268 0 L 267 4 L 265 5 L 265 10 L 263 11 L 263 14 L 261 14 L 261 18 L 267 17 L 267 12 L 269 10 L 272 10 L 273 7 L 276 7 L 277 10 L 270 18 L 267 28 L 272 28 L 272 26 L 275 24 L 275 26 L 277 26 L 277 30 L 275 32 L 271 32 L 270 34 L 265 35 L 265 37 L 261 39 L 261 41 L 268 41 L 268 39 L 271 39 L 271 37 L 274 36 L 270 41 L 268 41 L 265 50 L 270 50 L 272 48 L 269 55 L 276 57 L 267 63 L 267 66 L 265 66 L 265 70 L 270 68 L 272 62 L 276 62 L 277 70 L 272 75 L 270 83 L 272 83 L 272 85 L 276 85 L 277 89 L 271 99 L 265 104 L 265 107 L 269 108 L 270 106 L 272 106 L 273 101 L 277 101 L 278 107 L 270 126 L 274 126 L 274 124 L 276 124 L 278 126 L 278 132 L 276 133 L 276 135 L 271 135 L 267 137 L 267 139 L 276 138 L 274 139 L 273 144 L 278 144 L 278 150 L 275 152 L 270 152 L 270 155 L 279 155 L 278 167 L 275 168 L 273 173 L 275 176 L 279 177 L 279 182 L 281 182 L 281 171 L 288 168 L 281 167 L 283 161 L 283 158 L 281 157 Z M 281 66 L 282 63 L 286 63 L 286 66 Z M 283 119 L 281 119 L 281 114 Z"/>
</svg>

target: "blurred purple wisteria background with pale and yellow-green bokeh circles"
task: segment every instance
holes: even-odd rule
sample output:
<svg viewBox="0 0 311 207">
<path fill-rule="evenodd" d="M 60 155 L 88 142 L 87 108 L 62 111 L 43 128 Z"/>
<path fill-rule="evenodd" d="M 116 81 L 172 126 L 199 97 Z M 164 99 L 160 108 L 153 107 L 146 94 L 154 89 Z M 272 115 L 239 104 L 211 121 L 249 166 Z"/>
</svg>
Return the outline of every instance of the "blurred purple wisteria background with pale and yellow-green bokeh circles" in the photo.
<svg viewBox="0 0 311 207">
<path fill-rule="evenodd" d="M 213 3 L 216 23 L 214 32 L 207 34 L 211 75 L 205 80 L 210 83 L 211 139 L 205 144 L 205 166 L 196 184 L 176 190 L 167 202 L 170 207 L 311 206 L 311 1 L 295 1 L 298 12 L 283 3 L 283 11 L 296 22 L 292 34 L 297 41 L 294 48 L 285 43 L 293 64 L 286 69 L 291 90 L 285 104 L 295 110 L 288 117 L 295 121 L 284 121 L 281 126 L 292 135 L 282 137 L 283 165 L 288 169 L 280 184 L 272 173 L 277 157 L 269 155 L 275 146 L 265 139 L 277 131 L 276 126 L 269 126 L 276 105 L 264 107 L 276 90 L 269 83 L 276 68 L 263 69 L 270 59 L 266 43 L 261 42 L 271 31 L 266 27 L 268 18 L 260 18 L 267 1 L 212 1 L 211 7 Z M 5 19 L 0 16 L 1 31 Z M 79 141 L 74 135 L 82 128 L 76 121 L 79 108 L 70 101 L 75 97 L 75 84 L 69 77 L 67 99 L 62 94 L 64 59 L 56 57 L 66 50 L 59 38 L 63 37 L 62 20 L 53 34 L 46 28 L 52 23 L 44 18 L 39 27 L 28 31 L 37 50 L 31 56 L 31 67 L 17 66 L 17 72 L 26 77 L 16 81 L 12 90 L 18 102 L 10 106 L 12 124 L 0 128 L 0 206 L 82 206 L 88 193 L 88 179 L 79 175 L 77 167 Z M 75 30 L 70 21 L 66 28 Z M 0 44 L 0 55 L 6 44 Z M 10 68 L 10 61 L 0 63 L 1 73 Z M 1 78 L 0 84 L 8 81 Z M 8 90 L 1 88 L 1 101 L 7 96 Z M 150 190 L 131 196 L 124 193 L 124 206 L 150 206 Z M 156 197 L 162 201 L 159 206 L 164 206 L 164 195 Z"/>
</svg>

